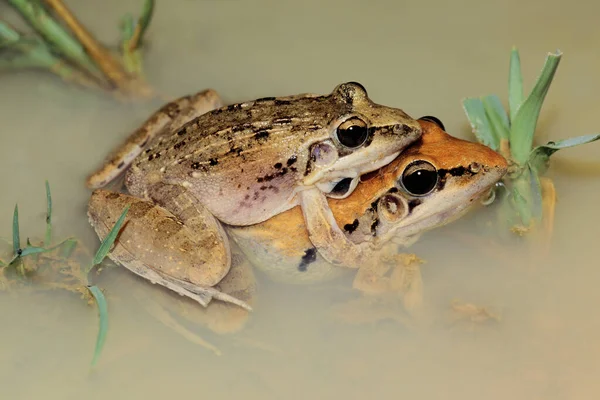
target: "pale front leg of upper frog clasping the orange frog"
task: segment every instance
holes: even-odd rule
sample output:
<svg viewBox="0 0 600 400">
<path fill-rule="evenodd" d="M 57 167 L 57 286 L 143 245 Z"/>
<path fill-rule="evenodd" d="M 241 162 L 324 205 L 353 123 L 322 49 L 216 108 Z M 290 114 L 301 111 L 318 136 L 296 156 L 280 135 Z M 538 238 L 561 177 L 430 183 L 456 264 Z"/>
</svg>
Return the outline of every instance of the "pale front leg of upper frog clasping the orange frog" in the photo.
<svg viewBox="0 0 600 400">
<path fill-rule="evenodd" d="M 319 189 L 299 191 L 298 197 L 310 241 L 325 260 L 346 268 L 359 268 L 369 262 L 372 252 L 368 244 L 348 239 Z"/>
</svg>

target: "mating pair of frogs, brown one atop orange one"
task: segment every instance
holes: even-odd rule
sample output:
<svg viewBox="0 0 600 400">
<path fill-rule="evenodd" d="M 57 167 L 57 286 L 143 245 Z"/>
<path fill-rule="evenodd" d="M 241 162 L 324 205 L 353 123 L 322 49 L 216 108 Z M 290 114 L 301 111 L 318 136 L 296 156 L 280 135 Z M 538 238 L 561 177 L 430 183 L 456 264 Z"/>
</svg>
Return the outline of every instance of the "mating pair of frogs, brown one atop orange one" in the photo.
<svg viewBox="0 0 600 400">
<path fill-rule="evenodd" d="M 467 142 L 464 149 L 458 145 L 468 149 L 462 157 L 448 159 L 455 165 L 442 159 L 437 168 L 430 161 L 399 166 L 398 160 L 407 158 L 398 154 L 419 138 L 421 124 L 399 109 L 373 103 L 356 83 L 339 85 L 328 96 L 265 98 L 206 112 L 219 105 L 216 93 L 205 91 L 163 107 L 88 180 L 90 187 L 103 186 L 132 163 L 125 180 L 132 196 L 95 191 L 89 206 L 92 225 L 106 235 L 129 204 L 111 258 L 203 305 L 217 298 L 249 308 L 215 288 L 231 265 L 224 224 L 233 231 L 239 227 L 233 236 L 240 243 L 243 236 L 260 233 L 261 226 L 262 232 L 300 235 L 291 247 L 280 242 L 280 255 L 301 250 L 299 261 L 292 255 L 282 264 L 295 264 L 296 270 L 308 270 L 300 266 L 313 263 L 362 267 L 373 250 L 403 229 L 395 228 L 398 221 L 415 215 L 408 236 L 435 226 L 489 188 L 506 167 L 483 146 L 469 144 L 478 146 L 471 155 Z M 378 178 L 355 190 L 362 174 L 386 165 Z M 398 171 L 406 177 L 436 176 L 430 189 L 449 195 L 423 201 L 437 197 L 407 192 Z M 452 207 L 444 199 L 452 199 Z M 330 208 L 335 201 L 343 210 L 337 214 Z M 355 202 L 361 206 L 347 211 Z M 290 225 L 288 219 L 296 222 Z M 311 271 L 318 270 L 315 265 Z"/>
</svg>

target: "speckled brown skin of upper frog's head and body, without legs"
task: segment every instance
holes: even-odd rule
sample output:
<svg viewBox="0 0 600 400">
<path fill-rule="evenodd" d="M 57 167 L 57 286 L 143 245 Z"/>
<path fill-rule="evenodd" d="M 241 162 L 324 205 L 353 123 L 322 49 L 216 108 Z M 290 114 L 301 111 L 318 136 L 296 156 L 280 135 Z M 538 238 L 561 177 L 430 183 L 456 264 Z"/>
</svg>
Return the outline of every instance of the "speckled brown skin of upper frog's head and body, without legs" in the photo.
<svg viewBox="0 0 600 400">
<path fill-rule="evenodd" d="M 334 137 L 350 116 L 369 127 L 355 149 Z M 299 190 L 380 167 L 420 134 L 402 110 L 375 104 L 362 86 L 346 83 L 327 96 L 264 98 L 203 114 L 138 157 L 126 185 L 145 199 L 156 198 L 157 182 L 181 185 L 220 221 L 255 224 L 297 205 Z M 322 142 L 337 150 L 326 165 L 311 158 Z"/>
</svg>

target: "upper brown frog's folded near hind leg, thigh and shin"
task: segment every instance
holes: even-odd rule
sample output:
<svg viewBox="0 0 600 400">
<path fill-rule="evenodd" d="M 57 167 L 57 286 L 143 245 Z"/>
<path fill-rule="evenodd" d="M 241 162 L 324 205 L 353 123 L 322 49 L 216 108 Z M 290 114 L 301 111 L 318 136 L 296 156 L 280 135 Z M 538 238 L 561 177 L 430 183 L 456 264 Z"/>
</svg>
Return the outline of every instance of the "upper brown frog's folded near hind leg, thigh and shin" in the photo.
<svg viewBox="0 0 600 400">
<path fill-rule="evenodd" d="M 127 205 L 129 212 L 109 254 L 113 261 L 203 306 L 214 298 L 250 309 L 214 287 L 229 271 L 231 253 L 220 223 L 208 211 L 199 205 L 186 207 L 182 222 L 150 201 L 96 190 L 88 215 L 98 236 L 108 234 Z"/>
</svg>

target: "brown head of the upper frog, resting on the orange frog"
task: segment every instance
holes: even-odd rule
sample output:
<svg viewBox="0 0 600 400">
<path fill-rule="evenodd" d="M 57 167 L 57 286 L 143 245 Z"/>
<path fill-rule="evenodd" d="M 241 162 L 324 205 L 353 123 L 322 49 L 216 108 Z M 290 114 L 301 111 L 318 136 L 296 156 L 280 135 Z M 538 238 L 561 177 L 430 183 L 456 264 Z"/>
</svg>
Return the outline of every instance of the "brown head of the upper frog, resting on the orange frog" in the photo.
<svg viewBox="0 0 600 400">
<path fill-rule="evenodd" d="M 375 104 L 356 82 L 338 85 L 328 98 L 329 138 L 311 145 L 304 184 L 343 198 L 361 174 L 386 165 L 416 141 L 421 126 L 398 108 Z"/>
</svg>

